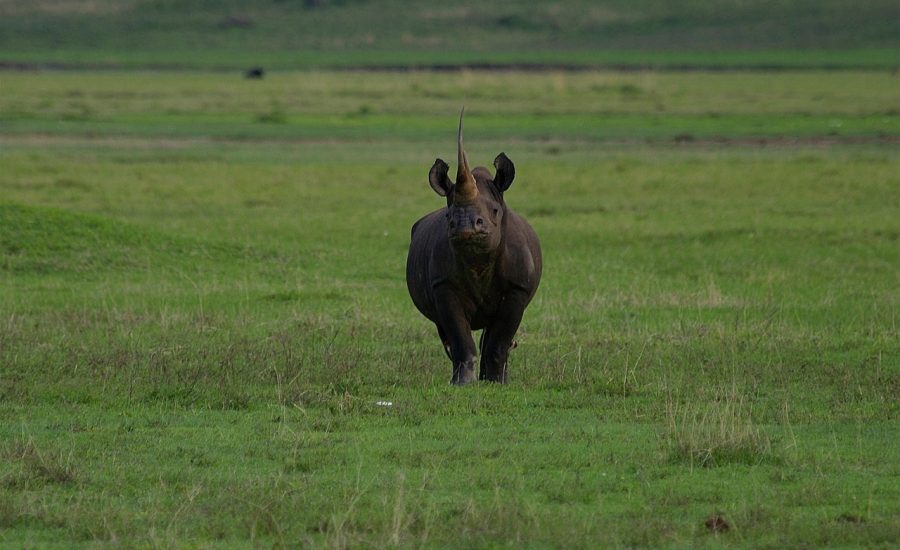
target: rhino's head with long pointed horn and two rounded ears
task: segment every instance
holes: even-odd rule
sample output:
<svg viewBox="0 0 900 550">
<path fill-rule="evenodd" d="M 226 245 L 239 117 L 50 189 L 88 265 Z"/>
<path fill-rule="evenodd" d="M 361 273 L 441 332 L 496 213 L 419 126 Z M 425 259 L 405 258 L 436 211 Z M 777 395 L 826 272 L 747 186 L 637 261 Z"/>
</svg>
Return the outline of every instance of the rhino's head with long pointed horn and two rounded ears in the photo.
<svg viewBox="0 0 900 550">
<path fill-rule="evenodd" d="M 456 182 L 447 175 L 450 167 L 434 161 L 428 182 L 435 192 L 447 197 L 447 235 L 454 248 L 471 253 L 490 253 L 500 246 L 506 203 L 503 193 L 512 185 L 515 166 L 504 153 L 494 159 L 496 174 L 484 168 L 469 169 L 463 149 L 463 113 L 459 115 Z"/>
</svg>

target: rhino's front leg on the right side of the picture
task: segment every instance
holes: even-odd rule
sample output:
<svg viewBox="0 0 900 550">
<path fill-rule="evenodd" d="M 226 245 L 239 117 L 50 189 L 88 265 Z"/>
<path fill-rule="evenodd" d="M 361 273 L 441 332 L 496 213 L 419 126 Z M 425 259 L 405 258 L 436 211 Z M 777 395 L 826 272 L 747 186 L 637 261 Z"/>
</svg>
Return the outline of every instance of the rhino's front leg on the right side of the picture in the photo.
<svg viewBox="0 0 900 550">
<path fill-rule="evenodd" d="M 482 380 L 506 383 L 509 350 L 529 300 L 528 293 L 518 289 L 511 290 L 503 297 L 494 322 L 484 332 L 479 374 Z"/>
</svg>

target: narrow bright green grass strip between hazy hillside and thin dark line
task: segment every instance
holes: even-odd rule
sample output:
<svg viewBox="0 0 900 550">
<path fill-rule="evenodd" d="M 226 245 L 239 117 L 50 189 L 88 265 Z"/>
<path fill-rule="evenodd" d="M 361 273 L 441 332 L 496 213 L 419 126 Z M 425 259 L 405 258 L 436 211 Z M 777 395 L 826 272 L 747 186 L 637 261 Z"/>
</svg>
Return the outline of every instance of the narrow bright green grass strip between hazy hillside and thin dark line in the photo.
<svg viewBox="0 0 900 550">
<path fill-rule="evenodd" d="M 0 62 L 23 69 L 215 70 L 238 73 L 249 67 L 284 70 L 433 70 L 453 68 L 522 70 L 886 70 L 900 65 L 895 48 L 763 49 L 712 51 L 532 50 L 456 51 L 354 49 L 350 51 L 247 49 L 148 51 L 19 49 L 0 51 Z"/>
</svg>

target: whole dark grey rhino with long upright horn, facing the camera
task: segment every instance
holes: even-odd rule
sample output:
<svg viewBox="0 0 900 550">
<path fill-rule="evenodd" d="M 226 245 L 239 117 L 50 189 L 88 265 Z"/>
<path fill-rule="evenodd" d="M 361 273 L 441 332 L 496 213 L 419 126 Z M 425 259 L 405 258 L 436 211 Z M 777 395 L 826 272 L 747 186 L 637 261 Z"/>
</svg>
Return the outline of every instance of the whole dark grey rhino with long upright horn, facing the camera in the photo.
<svg viewBox="0 0 900 550">
<path fill-rule="evenodd" d="M 512 161 L 500 153 L 493 177 L 483 167 L 470 170 L 462 136 L 460 113 L 456 182 L 447 176 L 447 163 L 435 160 L 428 182 L 447 207 L 413 225 L 406 285 L 416 308 L 437 326 L 453 362 L 451 383 L 475 380 L 471 331 L 479 329 L 479 378 L 506 382 L 513 337 L 541 280 L 541 247 L 503 199 L 516 175 Z"/>
</svg>

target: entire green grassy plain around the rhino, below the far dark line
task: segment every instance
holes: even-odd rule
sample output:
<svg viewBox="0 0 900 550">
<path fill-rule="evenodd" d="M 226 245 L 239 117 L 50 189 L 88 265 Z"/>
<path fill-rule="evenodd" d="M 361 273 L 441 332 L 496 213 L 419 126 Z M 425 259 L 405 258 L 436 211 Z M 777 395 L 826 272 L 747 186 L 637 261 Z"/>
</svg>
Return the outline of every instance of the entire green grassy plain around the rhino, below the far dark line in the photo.
<svg viewBox="0 0 900 550">
<path fill-rule="evenodd" d="M 0 544 L 900 540 L 896 77 L 0 78 Z M 503 387 L 403 277 L 463 102 L 545 253 Z"/>
</svg>

